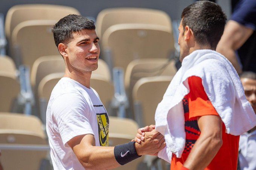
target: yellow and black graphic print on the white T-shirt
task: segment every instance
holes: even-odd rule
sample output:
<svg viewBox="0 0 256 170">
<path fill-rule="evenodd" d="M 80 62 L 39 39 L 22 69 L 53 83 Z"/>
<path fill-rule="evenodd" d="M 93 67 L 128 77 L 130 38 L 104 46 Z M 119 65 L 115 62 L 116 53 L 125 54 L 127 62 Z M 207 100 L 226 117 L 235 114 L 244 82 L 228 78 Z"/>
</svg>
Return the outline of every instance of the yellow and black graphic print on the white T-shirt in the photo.
<svg viewBox="0 0 256 170">
<path fill-rule="evenodd" d="M 107 113 L 97 114 L 98 129 L 99 129 L 99 143 L 101 146 L 108 146 L 108 126 L 109 120 Z"/>
</svg>

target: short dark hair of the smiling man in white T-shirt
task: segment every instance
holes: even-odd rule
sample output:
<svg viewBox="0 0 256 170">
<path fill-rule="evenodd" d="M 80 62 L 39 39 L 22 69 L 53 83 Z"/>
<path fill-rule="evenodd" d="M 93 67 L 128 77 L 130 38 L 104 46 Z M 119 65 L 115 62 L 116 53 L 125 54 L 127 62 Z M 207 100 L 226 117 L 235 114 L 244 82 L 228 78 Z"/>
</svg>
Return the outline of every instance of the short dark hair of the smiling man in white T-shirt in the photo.
<svg viewBox="0 0 256 170">
<path fill-rule="evenodd" d="M 72 33 L 81 30 L 95 30 L 94 22 L 75 14 L 61 18 L 52 28 L 55 45 L 58 47 L 59 43 L 69 41 L 73 38 Z"/>
</svg>

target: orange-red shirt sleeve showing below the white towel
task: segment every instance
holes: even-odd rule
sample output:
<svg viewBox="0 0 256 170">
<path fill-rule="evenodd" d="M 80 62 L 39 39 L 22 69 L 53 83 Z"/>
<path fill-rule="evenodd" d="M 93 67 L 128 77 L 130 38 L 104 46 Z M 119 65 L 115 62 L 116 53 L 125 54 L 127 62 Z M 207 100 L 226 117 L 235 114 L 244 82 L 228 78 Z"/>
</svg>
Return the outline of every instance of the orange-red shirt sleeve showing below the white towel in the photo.
<svg viewBox="0 0 256 170">
<path fill-rule="evenodd" d="M 197 116 L 204 115 L 219 115 L 212 105 L 212 102 L 206 95 L 200 77 L 192 76 L 189 77 L 189 88 L 188 94 L 189 101 L 189 119 Z"/>
</svg>

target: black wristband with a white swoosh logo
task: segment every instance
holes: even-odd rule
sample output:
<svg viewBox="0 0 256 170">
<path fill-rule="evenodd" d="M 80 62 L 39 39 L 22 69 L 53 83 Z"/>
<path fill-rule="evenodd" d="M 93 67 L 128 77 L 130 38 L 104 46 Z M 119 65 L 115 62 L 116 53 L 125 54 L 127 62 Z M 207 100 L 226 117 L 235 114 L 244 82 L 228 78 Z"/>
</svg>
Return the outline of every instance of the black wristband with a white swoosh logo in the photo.
<svg viewBox="0 0 256 170">
<path fill-rule="evenodd" d="M 139 158 L 136 149 L 134 147 L 135 142 L 129 142 L 125 144 L 120 144 L 114 147 L 114 155 L 116 161 L 120 165 L 127 164 L 128 162 L 133 161 L 134 159 Z"/>
</svg>

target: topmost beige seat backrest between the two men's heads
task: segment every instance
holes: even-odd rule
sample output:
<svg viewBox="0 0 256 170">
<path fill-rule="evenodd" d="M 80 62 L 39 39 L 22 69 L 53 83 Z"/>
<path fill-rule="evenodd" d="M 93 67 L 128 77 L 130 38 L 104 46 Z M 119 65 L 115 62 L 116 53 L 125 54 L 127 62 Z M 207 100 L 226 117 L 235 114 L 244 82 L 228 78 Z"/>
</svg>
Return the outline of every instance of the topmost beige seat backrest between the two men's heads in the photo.
<svg viewBox="0 0 256 170">
<path fill-rule="evenodd" d="M 156 24 L 172 29 L 171 18 L 163 11 L 145 8 L 109 8 L 102 10 L 97 16 L 97 35 L 102 38 L 109 27 L 126 23 Z"/>
</svg>

